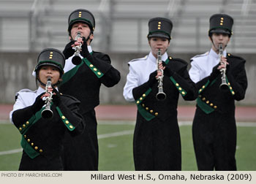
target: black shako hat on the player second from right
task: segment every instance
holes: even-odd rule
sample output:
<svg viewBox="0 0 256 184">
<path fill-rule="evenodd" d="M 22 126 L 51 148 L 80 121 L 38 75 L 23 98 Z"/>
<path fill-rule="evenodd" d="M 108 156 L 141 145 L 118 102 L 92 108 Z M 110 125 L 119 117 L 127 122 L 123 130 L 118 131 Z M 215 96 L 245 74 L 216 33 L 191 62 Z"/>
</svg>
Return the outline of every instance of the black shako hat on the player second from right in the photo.
<svg viewBox="0 0 256 184">
<path fill-rule="evenodd" d="M 148 38 L 161 37 L 171 39 L 173 23 L 167 18 L 151 18 L 148 21 Z"/>
</svg>

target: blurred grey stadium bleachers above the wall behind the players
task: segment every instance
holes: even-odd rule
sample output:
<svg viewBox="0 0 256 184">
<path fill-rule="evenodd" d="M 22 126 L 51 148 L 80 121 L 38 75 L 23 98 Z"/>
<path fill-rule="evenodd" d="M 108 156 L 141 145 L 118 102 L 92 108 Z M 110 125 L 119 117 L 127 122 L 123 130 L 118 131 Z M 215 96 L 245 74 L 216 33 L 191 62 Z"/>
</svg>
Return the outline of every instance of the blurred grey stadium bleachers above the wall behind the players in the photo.
<svg viewBox="0 0 256 184">
<path fill-rule="evenodd" d="M 256 0 L 1 0 L 0 51 L 63 49 L 67 18 L 74 9 L 89 9 L 96 18 L 95 50 L 140 53 L 148 50 L 148 20 L 173 20 L 170 51 L 204 52 L 209 46 L 208 19 L 224 12 L 235 19 L 229 50 L 256 51 Z"/>
</svg>

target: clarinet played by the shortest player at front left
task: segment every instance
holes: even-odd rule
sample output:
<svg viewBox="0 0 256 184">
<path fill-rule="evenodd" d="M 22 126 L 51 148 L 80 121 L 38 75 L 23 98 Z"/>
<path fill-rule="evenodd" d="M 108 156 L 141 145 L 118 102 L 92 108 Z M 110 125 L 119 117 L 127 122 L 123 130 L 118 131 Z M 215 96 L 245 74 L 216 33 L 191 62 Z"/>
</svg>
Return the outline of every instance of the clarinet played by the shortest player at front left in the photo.
<svg viewBox="0 0 256 184">
<path fill-rule="evenodd" d="M 45 93 L 49 93 L 50 96 L 45 97 L 45 109 L 42 110 L 42 118 L 50 120 L 53 118 L 53 111 L 50 110 L 50 102 L 53 100 L 53 93 L 48 92 L 48 88 L 51 88 L 51 77 L 47 78 L 47 83 L 45 85 Z"/>
</svg>

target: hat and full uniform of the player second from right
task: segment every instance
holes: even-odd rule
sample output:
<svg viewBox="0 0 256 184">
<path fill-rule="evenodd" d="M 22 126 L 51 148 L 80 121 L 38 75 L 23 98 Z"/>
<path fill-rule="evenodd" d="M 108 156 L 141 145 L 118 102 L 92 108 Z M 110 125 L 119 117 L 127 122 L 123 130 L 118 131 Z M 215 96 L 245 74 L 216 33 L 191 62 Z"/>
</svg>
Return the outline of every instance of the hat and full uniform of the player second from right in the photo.
<svg viewBox="0 0 256 184">
<path fill-rule="evenodd" d="M 166 18 L 148 22 L 150 37 L 170 40 L 173 24 Z M 124 86 L 124 98 L 138 107 L 133 153 L 135 170 L 181 170 L 181 139 L 177 120 L 179 94 L 185 100 L 195 100 L 197 90 L 189 78 L 187 63 L 180 58 L 162 55 L 165 66 L 163 89 L 166 99 L 156 99 L 158 93 L 157 58 L 149 53 L 145 58 L 129 61 L 129 74 Z"/>
</svg>

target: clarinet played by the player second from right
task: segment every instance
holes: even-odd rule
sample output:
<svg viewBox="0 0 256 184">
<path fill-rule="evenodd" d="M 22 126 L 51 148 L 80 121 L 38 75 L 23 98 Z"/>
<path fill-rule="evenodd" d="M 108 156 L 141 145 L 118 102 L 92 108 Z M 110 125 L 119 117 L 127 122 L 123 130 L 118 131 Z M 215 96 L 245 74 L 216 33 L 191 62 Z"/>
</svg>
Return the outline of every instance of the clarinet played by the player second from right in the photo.
<svg viewBox="0 0 256 184">
<path fill-rule="evenodd" d="M 164 93 L 164 89 L 162 87 L 162 85 L 163 85 L 162 84 L 162 80 L 164 78 L 164 70 L 163 69 L 159 69 L 159 63 L 160 62 L 162 62 L 162 55 L 161 55 L 161 50 L 159 49 L 157 51 L 157 70 L 162 72 L 162 76 L 159 76 L 157 78 L 157 80 L 158 80 L 158 86 L 157 86 L 158 93 L 156 95 L 156 98 L 157 98 L 157 100 L 164 100 L 166 98 L 166 94 Z"/>
</svg>

